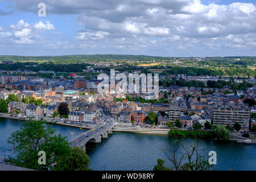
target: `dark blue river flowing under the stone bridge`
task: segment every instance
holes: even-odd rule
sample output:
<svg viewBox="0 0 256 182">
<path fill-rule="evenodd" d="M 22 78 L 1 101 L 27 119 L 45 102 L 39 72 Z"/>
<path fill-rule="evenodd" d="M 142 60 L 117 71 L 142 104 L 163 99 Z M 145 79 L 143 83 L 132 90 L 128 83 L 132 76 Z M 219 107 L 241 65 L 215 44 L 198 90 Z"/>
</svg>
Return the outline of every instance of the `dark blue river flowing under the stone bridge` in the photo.
<svg viewBox="0 0 256 182">
<path fill-rule="evenodd" d="M 23 121 L 9 118 L 0 118 L 0 155 L 10 154 L 10 145 L 7 139 L 13 131 L 19 130 Z M 71 138 L 81 133 L 76 127 L 51 125 L 57 134 Z M 85 131 L 82 130 L 82 131 Z M 73 135 L 71 135 L 73 133 Z M 134 133 L 113 132 L 108 139 L 101 143 L 92 143 L 86 146 L 86 153 L 90 157 L 90 168 L 94 170 L 152 170 L 157 159 L 170 163 L 159 148 L 171 146 L 177 140 L 189 145 L 193 139 L 175 138 L 158 135 L 142 135 Z M 216 151 L 217 170 L 256 170 L 256 145 L 230 141 L 200 141 L 200 146 L 207 146 L 205 154 Z"/>
</svg>

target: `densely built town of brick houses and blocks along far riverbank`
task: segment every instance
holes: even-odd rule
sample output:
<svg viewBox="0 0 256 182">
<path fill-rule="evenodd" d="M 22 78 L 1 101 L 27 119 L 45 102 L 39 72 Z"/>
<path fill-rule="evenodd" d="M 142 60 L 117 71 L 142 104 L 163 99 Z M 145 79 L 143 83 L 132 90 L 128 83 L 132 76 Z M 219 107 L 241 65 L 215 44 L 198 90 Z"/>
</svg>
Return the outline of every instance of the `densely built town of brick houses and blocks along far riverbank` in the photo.
<svg viewBox="0 0 256 182">
<path fill-rule="evenodd" d="M 114 122 L 140 129 L 208 130 L 214 125 L 224 125 L 230 131 L 240 130 L 241 137 L 255 138 L 253 132 L 250 132 L 256 129 L 256 80 L 253 76 L 161 75 L 164 66 L 158 65 L 156 68 L 156 62 L 154 60 L 144 65 L 134 65 L 137 68 L 131 71 L 144 73 L 151 69 L 151 73 L 160 73 L 159 96 L 155 100 L 149 100 L 148 93 L 142 92 L 98 93 L 102 80 L 97 80 L 97 75 L 93 79 L 85 79 L 77 73 L 68 73 L 66 78 L 57 77 L 54 71 L 38 72 L 52 74 L 52 78 L 46 78 L 11 74 L 9 71 L 0 75 L 1 115 L 89 127 L 89 124 L 108 122 L 103 117 L 104 111 Z M 87 63 L 83 70 L 86 73 L 94 73 L 99 68 L 99 65 L 94 67 Z M 2 65 L 15 64 L 19 63 L 2 61 Z M 71 64 L 69 66 L 72 67 Z M 120 65 L 109 68 L 118 67 Z M 110 73 L 110 69 L 104 68 L 101 65 L 98 74 Z M 129 71 L 115 72 L 127 76 L 129 74 Z M 114 88 L 120 81 L 114 81 Z"/>
</svg>

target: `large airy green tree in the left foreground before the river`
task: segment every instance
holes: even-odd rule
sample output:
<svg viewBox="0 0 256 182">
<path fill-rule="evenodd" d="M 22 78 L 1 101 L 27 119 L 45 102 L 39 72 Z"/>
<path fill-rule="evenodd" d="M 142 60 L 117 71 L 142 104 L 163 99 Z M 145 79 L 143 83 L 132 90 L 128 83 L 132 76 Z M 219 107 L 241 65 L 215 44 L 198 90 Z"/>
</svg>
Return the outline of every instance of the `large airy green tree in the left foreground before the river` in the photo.
<svg viewBox="0 0 256 182">
<path fill-rule="evenodd" d="M 49 125 L 43 122 L 26 121 L 23 122 L 20 130 L 15 131 L 9 137 L 8 143 L 13 146 L 15 157 L 9 156 L 8 162 L 16 166 L 40 169 L 38 164 L 38 152 L 46 152 L 46 167 L 52 169 L 51 164 L 60 164 L 61 159 L 70 154 L 67 137 L 54 135 Z M 60 168 L 56 168 L 60 169 Z"/>
</svg>

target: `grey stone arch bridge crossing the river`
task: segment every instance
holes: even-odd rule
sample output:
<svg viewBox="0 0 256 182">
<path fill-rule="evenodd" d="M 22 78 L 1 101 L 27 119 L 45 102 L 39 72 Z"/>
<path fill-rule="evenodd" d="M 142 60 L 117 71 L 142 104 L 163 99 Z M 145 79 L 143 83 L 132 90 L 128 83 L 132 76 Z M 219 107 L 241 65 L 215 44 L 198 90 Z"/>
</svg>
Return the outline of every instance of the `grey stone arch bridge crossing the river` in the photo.
<svg viewBox="0 0 256 182">
<path fill-rule="evenodd" d="M 85 144 L 87 142 L 100 143 L 101 138 L 108 138 L 108 134 L 113 133 L 114 126 L 113 125 L 104 125 L 102 127 L 98 127 L 96 129 L 91 129 L 85 131 L 84 133 L 78 135 L 71 139 L 70 146 L 71 147 L 81 147 L 84 151 L 86 149 Z"/>
</svg>

